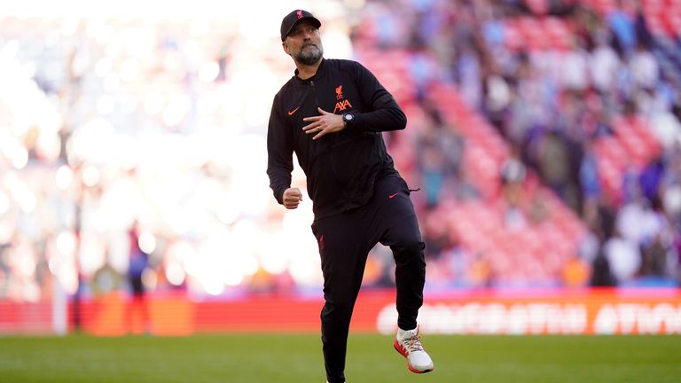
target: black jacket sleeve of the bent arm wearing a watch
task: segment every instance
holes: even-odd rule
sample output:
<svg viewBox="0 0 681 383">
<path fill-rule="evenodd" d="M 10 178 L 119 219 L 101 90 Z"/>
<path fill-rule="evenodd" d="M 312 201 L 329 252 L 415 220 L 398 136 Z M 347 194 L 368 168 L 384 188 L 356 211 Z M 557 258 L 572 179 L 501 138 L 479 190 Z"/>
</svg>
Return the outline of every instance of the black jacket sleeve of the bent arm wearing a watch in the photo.
<svg viewBox="0 0 681 383">
<path fill-rule="evenodd" d="M 368 110 L 356 114 L 350 129 L 381 132 L 402 130 L 407 126 L 407 116 L 397 105 L 393 95 L 369 69 L 359 63 L 356 63 L 355 81 Z"/>
</svg>

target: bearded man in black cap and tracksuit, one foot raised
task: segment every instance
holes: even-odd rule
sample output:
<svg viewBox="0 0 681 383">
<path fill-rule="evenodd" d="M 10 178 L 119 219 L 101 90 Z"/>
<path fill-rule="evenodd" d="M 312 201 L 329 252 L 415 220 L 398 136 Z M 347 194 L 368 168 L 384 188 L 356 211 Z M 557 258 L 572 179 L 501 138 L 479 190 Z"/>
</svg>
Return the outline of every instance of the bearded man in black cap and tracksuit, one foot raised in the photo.
<svg viewBox="0 0 681 383">
<path fill-rule="evenodd" d="M 321 22 L 297 10 L 281 22 L 282 48 L 295 75 L 279 90 L 267 136 L 270 187 L 278 202 L 298 207 L 291 187 L 293 153 L 305 172 L 324 275 L 322 343 L 326 378 L 345 382 L 350 317 L 369 251 L 390 246 L 395 257 L 398 327 L 394 346 L 411 371 L 433 371 L 416 318 L 426 278 L 424 244 L 409 197 L 393 167 L 382 131 L 404 129 L 395 99 L 364 66 L 324 59 Z"/>
</svg>

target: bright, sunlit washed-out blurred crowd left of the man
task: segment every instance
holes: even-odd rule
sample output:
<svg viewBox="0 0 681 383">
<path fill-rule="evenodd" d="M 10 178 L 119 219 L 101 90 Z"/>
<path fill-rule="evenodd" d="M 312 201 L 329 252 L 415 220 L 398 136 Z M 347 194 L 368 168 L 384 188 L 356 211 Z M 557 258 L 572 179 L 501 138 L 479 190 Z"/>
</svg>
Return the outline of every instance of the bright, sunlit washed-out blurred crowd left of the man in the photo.
<svg viewBox="0 0 681 383">
<path fill-rule="evenodd" d="M 238 17 L 0 22 L 0 298 L 132 291 L 133 248 L 147 291 L 317 286 L 310 209 L 264 173 L 290 68 Z"/>
</svg>

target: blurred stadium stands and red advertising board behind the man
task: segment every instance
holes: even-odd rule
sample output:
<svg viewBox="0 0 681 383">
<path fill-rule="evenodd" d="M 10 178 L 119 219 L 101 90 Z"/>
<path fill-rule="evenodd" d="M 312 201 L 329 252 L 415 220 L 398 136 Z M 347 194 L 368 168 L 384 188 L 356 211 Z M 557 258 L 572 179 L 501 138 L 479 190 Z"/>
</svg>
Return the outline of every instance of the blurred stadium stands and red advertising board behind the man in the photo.
<svg viewBox="0 0 681 383">
<path fill-rule="evenodd" d="M 624 332 L 633 300 L 681 332 L 677 0 L 4 4 L 0 332 L 317 331 L 311 202 L 265 174 L 294 7 L 407 113 L 384 138 L 421 189 L 434 331 L 474 303 Z M 356 326 L 387 331 L 393 285 L 377 246 Z"/>
</svg>

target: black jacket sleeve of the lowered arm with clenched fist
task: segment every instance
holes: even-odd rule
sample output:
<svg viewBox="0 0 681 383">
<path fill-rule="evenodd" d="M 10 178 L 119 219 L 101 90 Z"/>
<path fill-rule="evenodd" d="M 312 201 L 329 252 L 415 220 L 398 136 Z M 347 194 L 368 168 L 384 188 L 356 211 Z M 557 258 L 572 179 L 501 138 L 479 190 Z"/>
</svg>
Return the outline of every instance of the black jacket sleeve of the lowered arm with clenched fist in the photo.
<svg viewBox="0 0 681 383">
<path fill-rule="evenodd" d="M 278 97 L 274 98 L 267 129 L 267 175 L 270 188 L 279 204 L 284 204 L 284 191 L 291 187 L 291 172 L 294 170 L 294 145 L 286 121 L 279 113 Z"/>
</svg>

